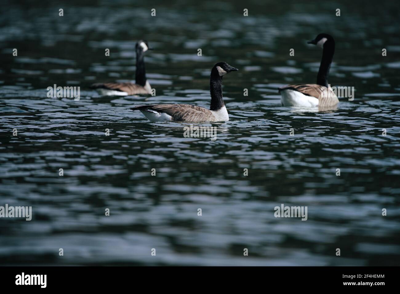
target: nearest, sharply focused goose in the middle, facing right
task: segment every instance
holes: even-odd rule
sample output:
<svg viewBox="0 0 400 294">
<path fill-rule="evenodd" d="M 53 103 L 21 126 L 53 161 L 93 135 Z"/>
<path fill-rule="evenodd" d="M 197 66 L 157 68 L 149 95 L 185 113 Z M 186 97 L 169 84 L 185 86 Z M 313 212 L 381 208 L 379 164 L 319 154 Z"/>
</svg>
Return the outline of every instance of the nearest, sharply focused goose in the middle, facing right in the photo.
<svg viewBox="0 0 400 294">
<path fill-rule="evenodd" d="M 210 109 L 190 104 L 153 104 L 131 108 L 140 110 L 150 121 L 228 121 L 222 99 L 222 77 L 238 70 L 226 62 L 218 62 L 210 75 Z"/>
</svg>

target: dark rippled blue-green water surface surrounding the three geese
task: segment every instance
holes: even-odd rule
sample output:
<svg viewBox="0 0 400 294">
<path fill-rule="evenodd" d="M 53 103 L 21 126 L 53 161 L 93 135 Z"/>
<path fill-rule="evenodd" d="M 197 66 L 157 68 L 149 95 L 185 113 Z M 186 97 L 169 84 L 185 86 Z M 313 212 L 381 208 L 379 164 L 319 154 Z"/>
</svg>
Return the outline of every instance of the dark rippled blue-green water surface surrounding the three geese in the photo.
<svg viewBox="0 0 400 294">
<path fill-rule="evenodd" d="M 0 206 L 32 206 L 32 221 L 0 219 L 0 264 L 399 265 L 398 6 L 6 2 Z M 305 41 L 320 32 L 336 39 L 330 83 L 354 87 L 354 101 L 282 107 L 277 87 L 316 81 L 322 52 Z M 155 49 L 145 62 L 156 96 L 88 89 L 133 80 L 139 39 Z M 224 77 L 230 121 L 197 124 L 217 127 L 215 141 L 129 109 L 208 107 L 219 61 L 239 72 Z M 48 98 L 53 84 L 80 86 L 80 100 Z M 307 221 L 275 218 L 281 204 L 308 207 Z"/>
</svg>

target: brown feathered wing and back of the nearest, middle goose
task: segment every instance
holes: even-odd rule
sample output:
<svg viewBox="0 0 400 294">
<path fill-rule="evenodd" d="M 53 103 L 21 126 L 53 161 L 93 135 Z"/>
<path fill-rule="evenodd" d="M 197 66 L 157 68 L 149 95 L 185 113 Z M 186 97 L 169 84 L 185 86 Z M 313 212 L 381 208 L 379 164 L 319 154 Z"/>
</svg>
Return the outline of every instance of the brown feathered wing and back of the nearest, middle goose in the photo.
<svg viewBox="0 0 400 294">
<path fill-rule="evenodd" d="M 215 118 L 209 109 L 190 104 L 140 105 L 131 109 L 166 113 L 174 121 L 210 121 Z"/>
</svg>

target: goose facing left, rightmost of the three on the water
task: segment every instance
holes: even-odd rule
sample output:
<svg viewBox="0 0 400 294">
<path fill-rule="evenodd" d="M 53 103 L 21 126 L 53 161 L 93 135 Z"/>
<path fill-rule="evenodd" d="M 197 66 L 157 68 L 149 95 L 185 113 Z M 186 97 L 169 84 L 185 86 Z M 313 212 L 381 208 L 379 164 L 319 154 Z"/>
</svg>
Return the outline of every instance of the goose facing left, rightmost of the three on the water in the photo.
<svg viewBox="0 0 400 294">
<path fill-rule="evenodd" d="M 335 52 L 335 40 L 328 34 L 319 34 L 308 41 L 323 48 L 316 84 L 287 85 L 279 88 L 282 105 L 297 107 L 327 107 L 338 104 L 339 99 L 328 85 L 328 75 Z M 326 88 L 323 88 L 326 87 Z"/>
</svg>

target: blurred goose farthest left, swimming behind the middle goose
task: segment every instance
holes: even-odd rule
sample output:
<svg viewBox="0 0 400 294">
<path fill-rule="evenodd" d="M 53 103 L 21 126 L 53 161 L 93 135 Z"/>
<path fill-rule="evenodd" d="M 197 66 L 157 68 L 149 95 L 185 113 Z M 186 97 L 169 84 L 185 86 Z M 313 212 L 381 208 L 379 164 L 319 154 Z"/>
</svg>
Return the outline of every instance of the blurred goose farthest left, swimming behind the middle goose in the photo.
<svg viewBox="0 0 400 294">
<path fill-rule="evenodd" d="M 144 69 L 144 52 L 147 50 L 152 50 L 147 41 L 140 40 L 136 43 L 136 83 L 95 83 L 90 88 L 107 96 L 151 94 L 151 87 L 146 79 L 146 70 Z"/>
</svg>

